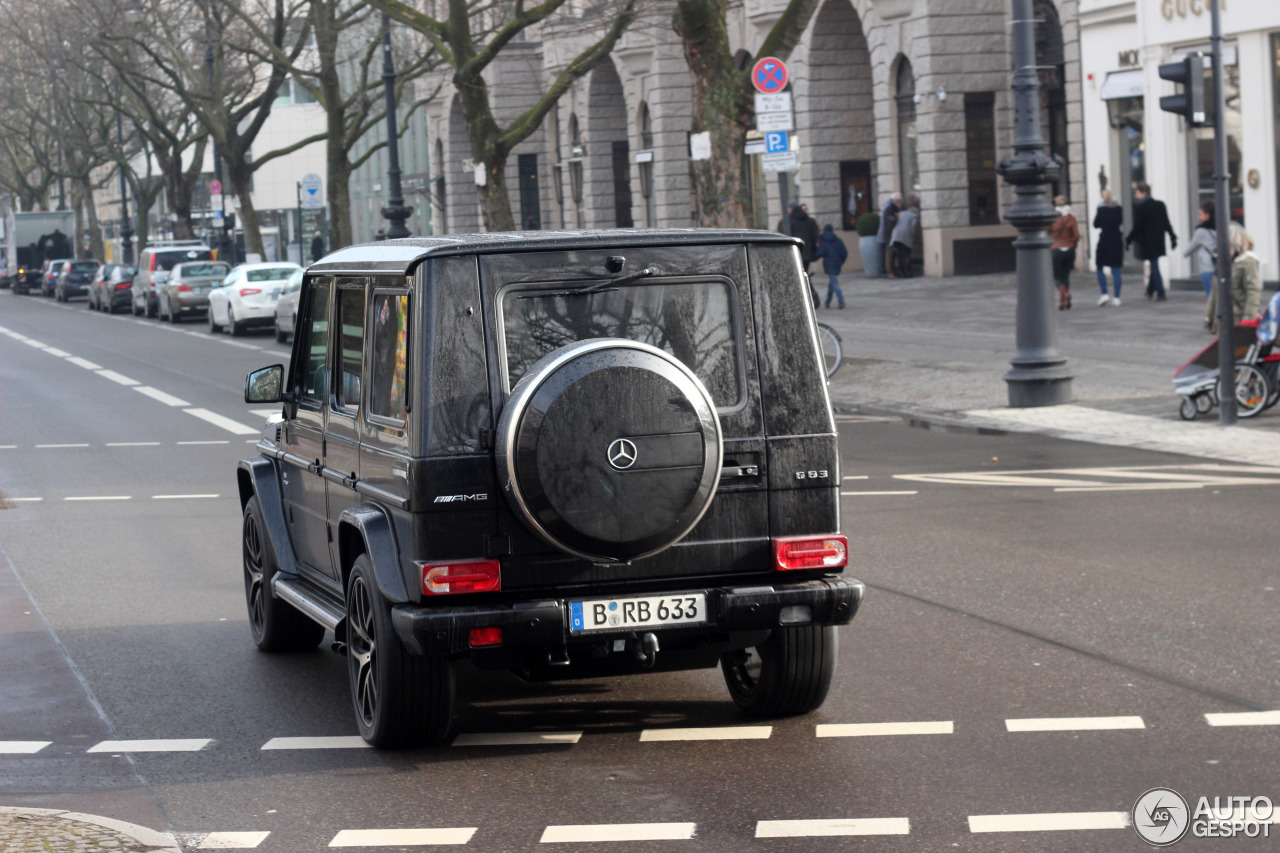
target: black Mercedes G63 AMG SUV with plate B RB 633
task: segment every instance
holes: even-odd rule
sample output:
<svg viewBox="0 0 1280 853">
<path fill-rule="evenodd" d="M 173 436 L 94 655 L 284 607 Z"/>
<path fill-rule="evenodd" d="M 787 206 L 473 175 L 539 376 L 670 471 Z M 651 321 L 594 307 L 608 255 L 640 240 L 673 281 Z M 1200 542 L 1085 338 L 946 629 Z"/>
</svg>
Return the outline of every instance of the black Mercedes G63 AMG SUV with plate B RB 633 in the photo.
<svg viewBox="0 0 1280 853">
<path fill-rule="evenodd" d="M 353 246 L 305 277 L 238 467 L 264 651 L 347 656 L 360 734 L 448 738 L 457 661 L 526 679 L 721 665 L 822 704 L 840 457 L 799 242 L 524 232 Z"/>
</svg>

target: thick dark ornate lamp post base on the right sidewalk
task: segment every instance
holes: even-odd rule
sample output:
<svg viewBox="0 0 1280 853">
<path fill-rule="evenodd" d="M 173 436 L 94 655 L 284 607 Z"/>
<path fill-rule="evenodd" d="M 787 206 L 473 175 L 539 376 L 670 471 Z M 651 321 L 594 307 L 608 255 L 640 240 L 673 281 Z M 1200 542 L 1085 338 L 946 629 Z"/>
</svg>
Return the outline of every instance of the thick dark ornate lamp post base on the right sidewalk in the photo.
<svg viewBox="0 0 1280 853">
<path fill-rule="evenodd" d="M 1057 351 L 1048 227 L 1057 213 L 1050 187 L 1061 164 L 1046 154 L 1039 122 L 1039 77 L 1036 73 L 1036 20 L 1032 0 L 1014 0 L 1014 156 L 1001 160 L 1000 174 L 1018 199 L 1005 219 L 1018 228 L 1016 351 L 1005 374 L 1014 409 L 1070 402 L 1071 374 Z"/>
</svg>

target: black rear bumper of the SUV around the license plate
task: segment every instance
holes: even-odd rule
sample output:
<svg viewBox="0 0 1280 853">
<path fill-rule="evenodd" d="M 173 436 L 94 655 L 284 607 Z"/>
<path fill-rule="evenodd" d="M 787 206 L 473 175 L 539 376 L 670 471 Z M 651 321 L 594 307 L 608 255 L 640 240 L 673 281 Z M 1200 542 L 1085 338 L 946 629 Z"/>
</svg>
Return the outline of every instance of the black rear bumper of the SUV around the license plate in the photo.
<svg viewBox="0 0 1280 853">
<path fill-rule="evenodd" d="M 709 635 L 742 631 L 768 631 L 783 625 L 785 607 L 808 607 L 808 621 L 787 625 L 845 625 L 852 620 L 863 601 L 864 585 L 851 578 L 822 578 L 790 584 L 759 587 L 726 587 L 698 592 L 707 593 L 708 620 L 690 626 L 657 626 L 653 633 Z M 680 589 L 672 589 L 675 594 Z M 691 590 L 690 590 L 691 592 Z M 498 606 L 428 607 L 397 605 L 392 624 L 401 640 L 413 654 L 466 654 L 474 628 L 502 628 L 503 647 L 527 651 L 562 651 L 573 644 L 599 643 L 603 639 L 632 637 L 643 629 L 617 634 L 593 633 L 573 635 L 568 630 L 568 599 L 544 599 Z"/>
</svg>

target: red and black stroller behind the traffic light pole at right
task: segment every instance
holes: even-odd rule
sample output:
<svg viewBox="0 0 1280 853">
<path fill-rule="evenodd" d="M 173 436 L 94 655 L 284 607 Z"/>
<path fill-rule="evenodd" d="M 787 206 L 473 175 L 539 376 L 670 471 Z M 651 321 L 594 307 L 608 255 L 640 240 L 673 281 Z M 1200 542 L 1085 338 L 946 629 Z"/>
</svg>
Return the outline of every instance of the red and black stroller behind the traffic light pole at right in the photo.
<svg viewBox="0 0 1280 853">
<path fill-rule="evenodd" d="M 1280 402 L 1280 352 L 1272 352 L 1280 327 L 1280 293 L 1254 320 L 1235 324 L 1235 406 L 1240 418 L 1253 418 Z M 1174 374 L 1174 391 L 1183 402 L 1178 414 L 1196 420 L 1217 405 L 1217 338 Z"/>
</svg>

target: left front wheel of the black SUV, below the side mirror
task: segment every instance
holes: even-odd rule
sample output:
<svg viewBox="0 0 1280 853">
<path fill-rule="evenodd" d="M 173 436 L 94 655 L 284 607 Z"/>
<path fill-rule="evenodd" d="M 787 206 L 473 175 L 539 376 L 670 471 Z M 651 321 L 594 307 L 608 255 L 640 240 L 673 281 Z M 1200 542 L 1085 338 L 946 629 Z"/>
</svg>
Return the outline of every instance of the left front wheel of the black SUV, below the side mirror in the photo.
<svg viewBox="0 0 1280 853">
<path fill-rule="evenodd" d="M 244 564 L 244 603 L 253 643 L 264 652 L 302 652 L 324 639 L 324 626 L 314 622 L 292 605 L 271 594 L 275 557 L 266 540 L 262 508 L 257 497 L 244 505 L 241 529 L 241 555 Z"/>
</svg>

